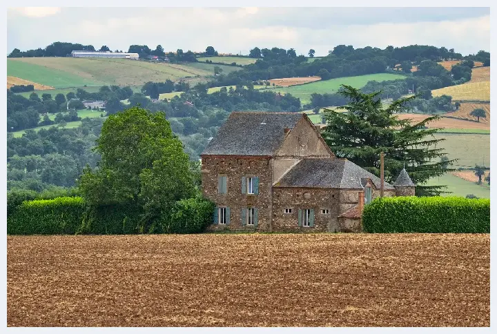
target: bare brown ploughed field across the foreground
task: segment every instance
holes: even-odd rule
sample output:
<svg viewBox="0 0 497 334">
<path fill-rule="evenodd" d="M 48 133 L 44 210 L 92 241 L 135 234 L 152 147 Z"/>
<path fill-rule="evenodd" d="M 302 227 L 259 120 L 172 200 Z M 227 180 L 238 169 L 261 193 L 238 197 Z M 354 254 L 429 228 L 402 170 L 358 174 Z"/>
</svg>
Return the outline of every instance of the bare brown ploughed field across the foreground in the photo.
<svg viewBox="0 0 497 334">
<path fill-rule="evenodd" d="M 7 238 L 8 326 L 489 326 L 487 235 Z"/>
</svg>

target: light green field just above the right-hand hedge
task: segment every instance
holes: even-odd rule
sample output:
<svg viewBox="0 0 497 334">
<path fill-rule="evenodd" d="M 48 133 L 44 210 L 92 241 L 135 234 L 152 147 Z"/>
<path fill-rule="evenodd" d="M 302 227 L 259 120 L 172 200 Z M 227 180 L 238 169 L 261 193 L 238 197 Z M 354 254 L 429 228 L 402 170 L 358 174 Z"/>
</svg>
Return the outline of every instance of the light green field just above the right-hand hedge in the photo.
<svg viewBox="0 0 497 334">
<path fill-rule="evenodd" d="M 490 198 L 490 186 L 488 184 L 478 185 L 450 173 L 429 179 L 425 186 L 447 186 L 444 191 L 450 191 L 451 193 L 443 194 L 442 196 L 466 197 L 466 195 L 473 194 L 480 198 Z"/>
</svg>

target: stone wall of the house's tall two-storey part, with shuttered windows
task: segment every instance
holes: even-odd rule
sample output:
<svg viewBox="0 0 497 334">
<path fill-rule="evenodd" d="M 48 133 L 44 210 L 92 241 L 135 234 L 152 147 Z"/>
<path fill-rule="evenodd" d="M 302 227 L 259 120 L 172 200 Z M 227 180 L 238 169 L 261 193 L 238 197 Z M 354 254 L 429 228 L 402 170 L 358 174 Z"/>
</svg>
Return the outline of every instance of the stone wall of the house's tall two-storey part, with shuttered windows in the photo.
<svg viewBox="0 0 497 334">
<path fill-rule="evenodd" d="M 212 225 L 211 230 L 269 230 L 271 224 L 272 166 L 269 157 L 202 157 L 202 192 L 217 206 L 230 208 L 229 225 Z M 226 194 L 217 193 L 217 177 L 226 176 Z M 242 193 L 242 177 L 259 177 L 259 194 Z M 258 209 L 258 225 L 242 226 L 242 208 Z"/>
</svg>

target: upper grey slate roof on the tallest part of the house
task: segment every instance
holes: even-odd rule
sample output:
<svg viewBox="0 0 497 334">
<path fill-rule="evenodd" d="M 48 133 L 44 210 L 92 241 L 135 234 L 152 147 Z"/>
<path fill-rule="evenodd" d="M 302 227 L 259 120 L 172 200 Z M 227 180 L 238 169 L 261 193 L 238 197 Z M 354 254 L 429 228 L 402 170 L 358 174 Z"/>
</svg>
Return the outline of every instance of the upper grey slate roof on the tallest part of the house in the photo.
<svg viewBox="0 0 497 334">
<path fill-rule="evenodd" d="M 300 112 L 231 112 L 202 155 L 273 155 Z"/>
</svg>

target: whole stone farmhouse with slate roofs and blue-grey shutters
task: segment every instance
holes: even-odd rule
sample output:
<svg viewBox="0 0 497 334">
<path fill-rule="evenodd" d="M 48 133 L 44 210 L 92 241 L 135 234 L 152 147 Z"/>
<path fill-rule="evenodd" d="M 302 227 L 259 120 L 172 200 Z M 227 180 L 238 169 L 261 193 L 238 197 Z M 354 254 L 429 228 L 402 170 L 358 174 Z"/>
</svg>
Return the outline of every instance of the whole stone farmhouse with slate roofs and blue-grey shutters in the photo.
<svg viewBox="0 0 497 334">
<path fill-rule="evenodd" d="M 201 157 L 212 230 L 360 231 L 362 208 L 380 196 L 380 179 L 335 157 L 298 112 L 232 112 Z M 414 190 L 405 170 L 384 182 L 384 196 Z"/>
</svg>

